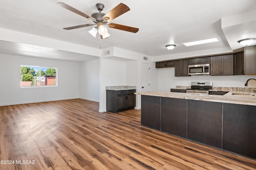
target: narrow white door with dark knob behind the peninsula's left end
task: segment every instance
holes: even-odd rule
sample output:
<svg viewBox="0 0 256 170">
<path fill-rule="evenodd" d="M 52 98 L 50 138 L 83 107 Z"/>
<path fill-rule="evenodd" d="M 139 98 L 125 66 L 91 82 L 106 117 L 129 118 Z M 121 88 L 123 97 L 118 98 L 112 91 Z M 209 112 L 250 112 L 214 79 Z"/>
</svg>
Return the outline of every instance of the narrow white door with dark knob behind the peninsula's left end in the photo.
<svg viewBox="0 0 256 170">
<path fill-rule="evenodd" d="M 141 92 L 148 92 L 149 85 L 149 64 L 141 63 Z"/>
</svg>

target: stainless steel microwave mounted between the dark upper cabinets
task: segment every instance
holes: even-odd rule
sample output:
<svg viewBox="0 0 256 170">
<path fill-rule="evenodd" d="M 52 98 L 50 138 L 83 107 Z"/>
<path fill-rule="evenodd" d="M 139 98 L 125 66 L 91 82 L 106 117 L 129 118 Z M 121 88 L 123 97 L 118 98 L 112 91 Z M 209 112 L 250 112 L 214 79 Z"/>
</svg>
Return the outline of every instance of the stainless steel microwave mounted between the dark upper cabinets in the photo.
<svg viewBox="0 0 256 170">
<path fill-rule="evenodd" d="M 210 74 L 210 64 L 188 65 L 188 75 Z"/>
</svg>

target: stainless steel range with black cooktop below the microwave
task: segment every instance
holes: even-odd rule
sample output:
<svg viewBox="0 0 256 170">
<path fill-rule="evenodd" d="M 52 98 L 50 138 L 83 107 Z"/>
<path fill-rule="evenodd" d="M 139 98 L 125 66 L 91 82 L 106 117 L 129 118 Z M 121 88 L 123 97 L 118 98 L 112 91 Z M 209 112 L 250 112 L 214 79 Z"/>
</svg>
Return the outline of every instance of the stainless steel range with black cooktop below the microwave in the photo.
<svg viewBox="0 0 256 170">
<path fill-rule="evenodd" d="M 191 82 L 191 89 L 186 89 L 186 93 L 197 93 L 197 94 L 209 94 L 209 90 L 212 90 L 212 82 Z"/>
</svg>

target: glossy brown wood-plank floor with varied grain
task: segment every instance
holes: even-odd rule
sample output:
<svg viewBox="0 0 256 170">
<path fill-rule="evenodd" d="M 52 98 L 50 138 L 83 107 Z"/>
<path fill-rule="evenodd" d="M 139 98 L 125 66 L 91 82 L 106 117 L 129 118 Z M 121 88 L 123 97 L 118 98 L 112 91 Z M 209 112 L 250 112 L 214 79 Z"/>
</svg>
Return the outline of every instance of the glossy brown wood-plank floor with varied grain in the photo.
<svg viewBox="0 0 256 170">
<path fill-rule="evenodd" d="M 256 169 L 256 160 L 142 127 L 140 110 L 98 107 L 83 99 L 0 107 L 0 169 Z"/>
</svg>

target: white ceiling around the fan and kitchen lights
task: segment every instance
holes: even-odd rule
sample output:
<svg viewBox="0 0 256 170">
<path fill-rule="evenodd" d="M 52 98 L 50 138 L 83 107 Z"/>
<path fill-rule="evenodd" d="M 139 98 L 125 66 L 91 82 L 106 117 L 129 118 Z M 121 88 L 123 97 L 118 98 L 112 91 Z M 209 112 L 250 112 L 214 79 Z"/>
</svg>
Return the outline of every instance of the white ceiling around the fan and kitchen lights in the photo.
<svg viewBox="0 0 256 170">
<path fill-rule="evenodd" d="M 88 15 L 98 12 L 95 4 L 105 5 L 103 13 L 109 12 L 121 2 L 130 7 L 130 11 L 112 20 L 116 24 L 139 28 L 137 33 L 108 28 L 110 37 L 104 40 L 92 37 L 88 31 L 91 27 L 74 30 L 62 28 L 93 24 L 57 5 L 64 2 Z M 221 20 L 228 17 L 233 20 L 239 14 L 256 10 L 256 0 L 1 0 L 0 28 L 33 34 L 64 42 L 84 45 L 96 49 L 118 47 L 142 53 L 148 56 L 162 56 L 194 51 L 226 48 L 234 50 L 242 47 L 238 40 L 256 38 L 256 16 L 249 21 L 240 18 L 241 24 L 222 28 Z M 246 15 L 245 15 L 246 16 Z M 243 23 L 243 21 L 245 23 Z M 181 43 L 207 38 L 220 38 L 221 42 L 184 47 Z M 1 38 L 0 38 L 1 40 Z M 6 44 L 7 43 L 7 44 Z M 175 44 L 173 50 L 165 45 Z M 252 44 L 255 45 L 256 41 Z M 22 44 L 24 46 L 24 44 Z M 31 44 L 33 45 L 33 44 Z M 19 44 L 1 41 L 0 53 L 28 55 L 36 57 L 58 56 L 64 60 L 86 61 L 96 59 L 94 56 L 61 50 L 46 50 L 44 56 L 28 47 L 27 52 L 18 50 Z M 40 47 L 36 50 L 40 51 Z"/>
</svg>

